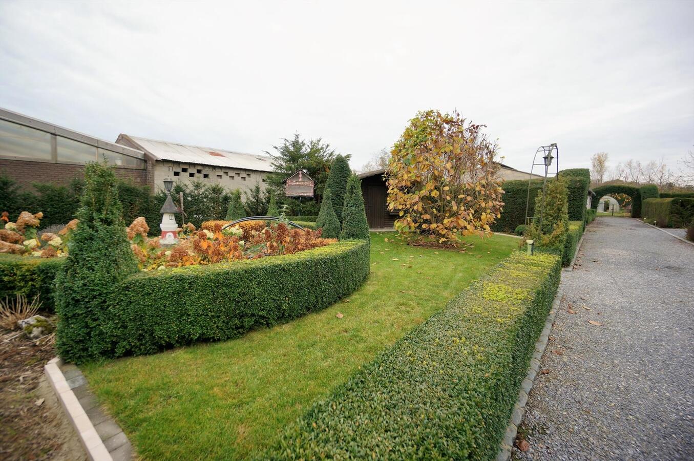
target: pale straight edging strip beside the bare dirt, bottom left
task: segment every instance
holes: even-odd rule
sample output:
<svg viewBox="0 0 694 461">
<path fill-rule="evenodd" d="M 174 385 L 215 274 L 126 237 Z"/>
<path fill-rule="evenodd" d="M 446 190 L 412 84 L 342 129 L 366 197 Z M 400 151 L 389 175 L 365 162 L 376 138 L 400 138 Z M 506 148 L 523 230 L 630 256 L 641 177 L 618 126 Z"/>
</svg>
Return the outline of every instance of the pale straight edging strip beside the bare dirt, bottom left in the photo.
<svg viewBox="0 0 694 461">
<path fill-rule="evenodd" d="M 58 357 L 53 358 L 44 366 L 44 373 L 49 383 L 51 383 L 53 391 L 56 392 L 58 401 L 60 401 L 62 409 L 65 410 L 65 414 L 67 414 L 67 419 L 70 420 L 75 428 L 80 442 L 82 442 L 87 452 L 87 456 L 94 461 L 112 460 L 113 458 L 111 458 L 106 446 L 101 441 L 101 437 L 96 433 L 92 421 L 90 421 L 84 408 L 77 400 L 75 393 L 72 392 L 72 389 L 67 384 L 65 376 L 60 371 L 60 365 L 62 365 L 62 359 Z"/>
</svg>

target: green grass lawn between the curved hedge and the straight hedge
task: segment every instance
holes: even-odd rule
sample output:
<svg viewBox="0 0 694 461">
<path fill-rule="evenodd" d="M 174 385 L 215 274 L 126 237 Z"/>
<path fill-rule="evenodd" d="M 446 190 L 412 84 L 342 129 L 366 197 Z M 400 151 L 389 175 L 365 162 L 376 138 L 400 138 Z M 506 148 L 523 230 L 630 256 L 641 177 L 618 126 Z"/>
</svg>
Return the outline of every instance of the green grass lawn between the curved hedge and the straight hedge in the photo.
<svg viewBox="0 0 694 461">
<path fill-rule="evenodd" d="M 465 253 L 385 237 L 393 233 L 372 233 L 371 276 L 344 302 L 236 340 L 87 364 L 85 375 L 143 458 L 257 455 L 313 401 L 518 248 L 502 235 L 468 237 Z"/>
</svg>

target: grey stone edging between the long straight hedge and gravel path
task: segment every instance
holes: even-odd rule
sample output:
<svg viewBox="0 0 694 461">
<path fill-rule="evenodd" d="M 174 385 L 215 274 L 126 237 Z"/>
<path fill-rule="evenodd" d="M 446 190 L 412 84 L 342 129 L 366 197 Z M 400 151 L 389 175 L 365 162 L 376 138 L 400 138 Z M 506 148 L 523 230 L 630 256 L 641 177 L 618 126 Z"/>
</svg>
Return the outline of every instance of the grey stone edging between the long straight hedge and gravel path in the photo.
<svg viewBox="0 0 694 461">
<path fill-rule="evenodd" d="M 578 254 L 578 250 L 576 251 Z M 542 354 L 545 352 L 547 347 L 547 342 L 550 338 L 550 331 L 552 331 L 552 325 L 555 323 L 555 316 L 559 310 L 559 304 L 561 303 L 561 289 L 557 289 L 557 295 L 555 300 L 552 301 L 552 308 L 550 313 L 547 315 L 545 320 L 545 328 L 543 328 L 540 337 L 535 342 L 535 350 L 532 353 L 532 359 L 530 359 L 530 367 L 527 369 L 527 376 L 521 383 L 521 391 L 518 392 L 518 401 L 514 405 L 513 413 L 511 413 L 511 420 L 509 425 L 506 427 L 506 433 L 501 441 L 499 452 L 496 455 L 496 461 L 508 461 L 511 459 L 511 449 L 514 446 L 514 440 L 516 439 L 516 434 L 518 433 L 518 426 L 521 425 L 523 421 L 523 416 L 525 415 L 525 405 L 527 404 L 528 394 L 530 394 L 530 389 L 535 382 L 535 377 L 537 376 L 540 369 L 540 359 Z"/>
</svg>

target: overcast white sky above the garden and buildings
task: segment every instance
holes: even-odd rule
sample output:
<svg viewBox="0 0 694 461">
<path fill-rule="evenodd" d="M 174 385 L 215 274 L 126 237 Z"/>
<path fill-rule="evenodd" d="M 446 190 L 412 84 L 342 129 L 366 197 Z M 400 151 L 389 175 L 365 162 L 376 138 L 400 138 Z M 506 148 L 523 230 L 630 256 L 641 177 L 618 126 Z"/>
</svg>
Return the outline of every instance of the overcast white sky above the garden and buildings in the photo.
<svg viewBox="0 0 694 461">
<path fill-rule="evenodd" d="M 0 1 L 0 107 L 260 153 L 323 137 L 360 167 L 417 110 L 457 109 L 528 169 L 694 149 L 694 2 Z"/>
</svg>

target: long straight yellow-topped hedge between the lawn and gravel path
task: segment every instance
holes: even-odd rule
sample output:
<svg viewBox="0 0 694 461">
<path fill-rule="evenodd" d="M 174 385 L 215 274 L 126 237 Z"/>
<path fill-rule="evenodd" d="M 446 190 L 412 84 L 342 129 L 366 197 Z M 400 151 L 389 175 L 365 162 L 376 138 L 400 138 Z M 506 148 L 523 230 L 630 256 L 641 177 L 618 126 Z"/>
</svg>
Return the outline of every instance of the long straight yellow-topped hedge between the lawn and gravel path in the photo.
<svg viewBox="0 0 694 461">
<path fill-rule="evenodd" d="M 285 429 L 268 459 L 494 459 L 559 285 L 513 253 Z"/>
</svg>

